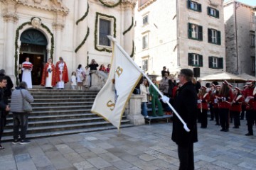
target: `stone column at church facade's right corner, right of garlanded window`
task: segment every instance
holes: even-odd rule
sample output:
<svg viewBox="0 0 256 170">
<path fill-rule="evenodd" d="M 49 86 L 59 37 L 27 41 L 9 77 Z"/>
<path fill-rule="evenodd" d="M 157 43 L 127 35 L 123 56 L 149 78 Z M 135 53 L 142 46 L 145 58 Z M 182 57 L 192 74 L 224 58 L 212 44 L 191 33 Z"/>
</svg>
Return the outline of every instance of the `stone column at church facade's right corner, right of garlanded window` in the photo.
<svg viewBox="0 0 256 170">
<path fill-rule="evenodd" d="M 124 13 L 124 30 L 127 30 L 130 26 L 134 24 L 134 21 L 132 21 L 132 17 L 134 18 L 134 6 L 136 4 L 136 1 L 134 0 L 123 0 L 123 13 Z M 124 50 L 128 52 L 129 55 L 132 54 L 132 41 L 134 38 L 134 27 L 132 26 L 132 29 L 127 31 L 127 33 L 124 34 Z"/>
</svg>

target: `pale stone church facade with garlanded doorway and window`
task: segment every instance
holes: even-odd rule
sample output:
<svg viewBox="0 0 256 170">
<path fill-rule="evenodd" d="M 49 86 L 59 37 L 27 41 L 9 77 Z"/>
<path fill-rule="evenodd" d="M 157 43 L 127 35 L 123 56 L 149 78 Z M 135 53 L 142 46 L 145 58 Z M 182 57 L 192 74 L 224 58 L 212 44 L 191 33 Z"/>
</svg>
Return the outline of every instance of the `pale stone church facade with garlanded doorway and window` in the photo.
<svg viewBox="0 0 256 170">
<path fill-rule="evenodd" d="M 63 57 L 69 74 L 95 59 L 109 64 L 114 36 L 131 56 L 136 0 L 0 0 L 0 69 L 14 82 L 30 57 L 33 85 L 48 58 Z"/>
</svg>

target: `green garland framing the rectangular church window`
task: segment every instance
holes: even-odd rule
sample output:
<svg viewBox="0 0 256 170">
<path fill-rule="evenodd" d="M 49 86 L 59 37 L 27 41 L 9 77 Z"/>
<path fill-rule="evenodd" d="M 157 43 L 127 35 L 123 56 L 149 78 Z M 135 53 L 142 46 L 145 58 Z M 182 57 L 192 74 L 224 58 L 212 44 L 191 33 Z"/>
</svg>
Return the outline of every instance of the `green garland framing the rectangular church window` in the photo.
<svg viewBox="0 0 256 170">
<path fill-rule="evenodd" d="M 95 18 L 95 50 L 100 51 L 100 52 L 102 52 L 102 51 L 112 52 L 112 50 L 109 50 L 107 48 L 99 49 L 97 47 L 97 18 L 98 18 L 98 16 L 105 16 L 107 18 L 113 18 L 114 19 L 114 38 L 116 38 L 116 32 L 117 32 L 116 18 L 114 16 L 108 16 L 106 14 L 96 12 L 96 18 Z"/>
</svg>

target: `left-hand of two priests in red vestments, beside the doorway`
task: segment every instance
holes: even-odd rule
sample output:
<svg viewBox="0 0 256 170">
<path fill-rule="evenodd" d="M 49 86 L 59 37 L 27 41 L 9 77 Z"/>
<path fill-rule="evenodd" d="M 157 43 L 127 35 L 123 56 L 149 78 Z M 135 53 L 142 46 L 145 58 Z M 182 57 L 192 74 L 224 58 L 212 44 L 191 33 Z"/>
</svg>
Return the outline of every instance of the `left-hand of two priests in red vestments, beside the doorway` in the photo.
<svg viewBox="0 0 256 170">
<path fill-rule="evenodd" d="M 48 89 L 53 89 L 53 86 L 56 85 L 55 67 L 51 58 L 48 59 L 48 62 L 43 68 L 41 85 L 46 86 Z"/>
</svg>

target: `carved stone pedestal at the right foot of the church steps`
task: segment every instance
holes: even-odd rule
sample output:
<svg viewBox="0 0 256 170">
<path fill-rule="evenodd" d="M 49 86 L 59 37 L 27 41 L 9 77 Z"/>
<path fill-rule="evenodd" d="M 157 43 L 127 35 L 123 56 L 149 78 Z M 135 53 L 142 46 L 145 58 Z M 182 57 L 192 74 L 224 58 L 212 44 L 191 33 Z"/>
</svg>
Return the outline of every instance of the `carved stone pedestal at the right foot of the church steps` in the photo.
<svg viewBox="0 0 256 170">
<path fill-rule="evenodd" d="M 145 125 L 145 119 L 142 115 L 142 95 L 132 94 L 129 100 L 129 114 L 127 118 L 133 125 Z"/>
</svg>

